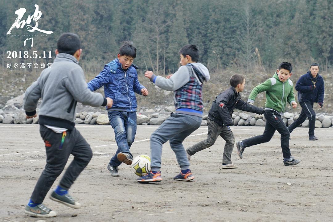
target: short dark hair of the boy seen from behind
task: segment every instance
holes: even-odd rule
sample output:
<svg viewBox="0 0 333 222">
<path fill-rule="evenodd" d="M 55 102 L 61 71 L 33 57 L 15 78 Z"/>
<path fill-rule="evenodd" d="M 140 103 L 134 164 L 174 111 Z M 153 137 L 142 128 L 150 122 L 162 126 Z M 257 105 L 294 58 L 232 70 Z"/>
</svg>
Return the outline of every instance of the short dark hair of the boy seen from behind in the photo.
<svg viewBox="0 0 333 222">
<path fill-rule="evenodd" d="M 59 53 L 67 53 L 73 56 L 77 50 L 81 49 L 79 36 L 74 33 L 62 34 L 58 39 L 57 49 Z"/>
</svg>

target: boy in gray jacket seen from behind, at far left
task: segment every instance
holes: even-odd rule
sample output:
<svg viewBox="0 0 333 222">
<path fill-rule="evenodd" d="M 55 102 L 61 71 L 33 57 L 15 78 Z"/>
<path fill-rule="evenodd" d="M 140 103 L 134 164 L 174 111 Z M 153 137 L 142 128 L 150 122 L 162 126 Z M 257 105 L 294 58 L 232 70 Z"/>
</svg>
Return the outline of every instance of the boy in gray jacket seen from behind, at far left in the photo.
<svg viewBox="0 0 333 222">
<path fill-rule="evenodd" d="M 80 208 L 68 189 L 92 158 L 87 141 L 75 128 L 76 103 L 110 108 L 113 100 L 93 93 L 87 88 L 82 68 L 78 65 L 82 53 L 81 41 L 76 34 L 65 33 L 57 42 L 56 59 L 44 69 L 36 82 L 24 94 L 27 118 L 35 117 L 37 103 L 43 98 L 39 110 L 40 134 L 45 142 L 46 165 L 25 207 L 25 213 L 35 217 L 55 217 L 57 213 L 43 204 L 47 192 L 63 171 L 70 154 L 73 161 L 50 198 L 72 208 Z"/>
</svg>

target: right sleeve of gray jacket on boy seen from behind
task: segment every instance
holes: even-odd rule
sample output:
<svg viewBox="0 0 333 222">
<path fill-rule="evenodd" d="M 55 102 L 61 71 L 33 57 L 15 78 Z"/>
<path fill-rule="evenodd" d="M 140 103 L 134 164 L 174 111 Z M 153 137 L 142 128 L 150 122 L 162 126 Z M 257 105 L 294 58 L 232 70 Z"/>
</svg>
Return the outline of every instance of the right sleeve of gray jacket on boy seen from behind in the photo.
<svg viewBox="0 0 333 222">
<path fill-rule="evenodd" d="M 66 81 L 66 88 L 77 102 L 84 105 L 99 107 L 104 102 L 104 97 L 101 94 L 93 93 L 87 88 L 81 67 L 71 70 Z"/>
</svg>

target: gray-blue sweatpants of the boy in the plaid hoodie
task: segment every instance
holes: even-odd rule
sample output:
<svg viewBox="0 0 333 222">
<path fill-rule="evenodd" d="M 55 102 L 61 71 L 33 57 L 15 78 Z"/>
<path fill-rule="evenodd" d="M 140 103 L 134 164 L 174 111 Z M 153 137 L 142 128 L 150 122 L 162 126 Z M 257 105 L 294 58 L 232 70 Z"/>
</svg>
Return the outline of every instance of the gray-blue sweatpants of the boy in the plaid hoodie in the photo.
<svg viewBox="0 0 333 222">
<path fill-rule="evenodd" d="M 162 159 L 162 145 L 169 140 L 171 149 L 176 154 L 181 170 L 189 169 L 186 151 L 182 142 L 200 127 L 202 117 L 172 113 L 150 137 L 152 171 L 160 171 Z"/>
</svg>

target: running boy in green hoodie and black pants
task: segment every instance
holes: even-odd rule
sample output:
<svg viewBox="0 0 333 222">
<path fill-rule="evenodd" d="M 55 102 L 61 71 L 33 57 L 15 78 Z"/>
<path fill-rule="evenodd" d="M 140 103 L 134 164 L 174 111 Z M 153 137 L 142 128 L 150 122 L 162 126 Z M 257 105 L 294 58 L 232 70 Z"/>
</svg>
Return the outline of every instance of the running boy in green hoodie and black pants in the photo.
<svg viewBox="0 0 333 222">
<path fill-rule="evenodd" d="M 269 78 L 252 90 L 247 100 L 249 104 L 254 103 L 254 100 L 259 93 L 266 91 L 266 108 L 264 113 L 266 125 L 265 131 L 262 135 L 244 139 L 236 143 L 237 153 L 241 159 L 243 158 L 245 147 L 268 142 L 273 137 L 275 130 L 277 130 L 281 134 L 281 148 L 284 165 L 291 166 L 300 162 L 300 160 L 294 159 L 291 155 L 289 149 L 289 130 L 281 118 L 281 114 L 284 112 L 287 102 L 290 106 L 292 106 L 292 108 L 297 107 L 294 97 L 293 84 L 289 79 L 292 75 L 291 70 L 292 65 L 290 63 L 281 63 L 279 69 L 272 78 Z"/>
</svg>

